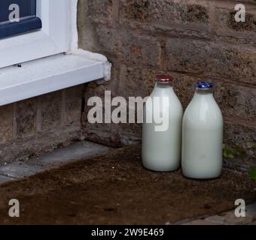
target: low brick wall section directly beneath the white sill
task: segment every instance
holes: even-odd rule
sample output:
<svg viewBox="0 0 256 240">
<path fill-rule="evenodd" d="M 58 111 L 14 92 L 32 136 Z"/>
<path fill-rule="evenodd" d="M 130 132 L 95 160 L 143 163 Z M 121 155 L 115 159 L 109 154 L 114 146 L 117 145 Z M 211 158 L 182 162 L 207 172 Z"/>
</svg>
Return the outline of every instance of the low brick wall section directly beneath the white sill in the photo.
<svg viewBox="0 0 256 240">
<path fill-rule="evenodd" d="M 83 89 L 75 86 L 0 107 L 0 163 L 80 139 Z"/>
</svg>

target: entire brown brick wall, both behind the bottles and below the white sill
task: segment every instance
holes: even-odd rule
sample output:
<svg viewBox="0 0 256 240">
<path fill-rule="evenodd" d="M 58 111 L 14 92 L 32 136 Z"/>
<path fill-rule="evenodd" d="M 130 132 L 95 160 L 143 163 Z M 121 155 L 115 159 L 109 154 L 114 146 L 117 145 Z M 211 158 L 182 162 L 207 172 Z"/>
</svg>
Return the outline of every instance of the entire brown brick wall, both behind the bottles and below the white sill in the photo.
<svg viewBox="0 0 256 240">
<path fill-rule="evenodd" d="M 244 3 L 246 23 L 233 20 Z M 113 63 L 111 81 L 76 86 L 0 107 L 0 162 L 87 139 L 140 141 L 140 124 L 89 124 L 83 97 L 146 96 L 156 74 L 172 74 L 183 107 L 197 80 L 216 84 L 225 142 L 256 141 L 256 1 L 79 0 L 79 45 Z M 81 121 L 81 112 L 84 110 Z M 83 137 L 84 137 L 83 136 Z M 83 138 L 82 137 L 82 138 Z"/>
</svg>

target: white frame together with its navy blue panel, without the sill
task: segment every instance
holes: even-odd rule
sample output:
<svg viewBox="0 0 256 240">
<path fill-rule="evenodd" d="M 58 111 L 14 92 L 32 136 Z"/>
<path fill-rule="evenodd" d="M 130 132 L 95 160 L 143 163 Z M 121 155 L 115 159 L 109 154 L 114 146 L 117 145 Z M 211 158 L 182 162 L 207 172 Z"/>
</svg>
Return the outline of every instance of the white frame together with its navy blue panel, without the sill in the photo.
<svg viewBox="0 0 256 240">
<path fill-rule="evenodd" d="M 1 0 L 0 68 L 68 51 L 72 1 Z M 20 23 L 6 23 L 10 2 L 20 3 Z"/>
</svg>

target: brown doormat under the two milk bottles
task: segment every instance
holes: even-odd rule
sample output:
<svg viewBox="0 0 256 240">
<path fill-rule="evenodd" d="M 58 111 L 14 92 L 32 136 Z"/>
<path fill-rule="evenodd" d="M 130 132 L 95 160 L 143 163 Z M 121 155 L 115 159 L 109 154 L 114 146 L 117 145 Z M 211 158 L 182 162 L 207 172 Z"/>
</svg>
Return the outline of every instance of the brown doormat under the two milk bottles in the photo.
<svg viewBox="0 0 256 240">
<path fill-rule="evenodd" d="M 114 149 L 12 181 L 0 187 L 0 223 L 165 224 L 235 208 L 236 199 L 256 202 L 256 184 L 224 169 L 221 178 L 194 181 L 181 172 L 143 168 L 141 148 Z M 9 199 L 20 217 L 8 217 Z"/>
</svg>

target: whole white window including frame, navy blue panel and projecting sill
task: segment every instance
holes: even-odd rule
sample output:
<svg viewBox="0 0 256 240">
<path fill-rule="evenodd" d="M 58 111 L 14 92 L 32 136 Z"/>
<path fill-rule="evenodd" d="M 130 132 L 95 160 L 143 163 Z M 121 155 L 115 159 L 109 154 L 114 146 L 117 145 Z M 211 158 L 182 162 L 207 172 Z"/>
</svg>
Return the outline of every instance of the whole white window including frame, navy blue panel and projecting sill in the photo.
<svg viewBox="0 0 256 240">
<path fill-rule="evenodd" d="M 3 1 L 10 2 L 0 0 L 0 8 Z M 9 33 L 0 37 L 0 106 L 93 80 L 110 80 L 111 64 L 104 55 L 78 49 L 78 0 L 17 2 L 26 3 L 20 4 L 19 22 L 26 28 L 6 23 L 9 12 L 0 12 L 0 32 Z M 1 29 L 5 24 L 13 25 Z"/>
</svg>

